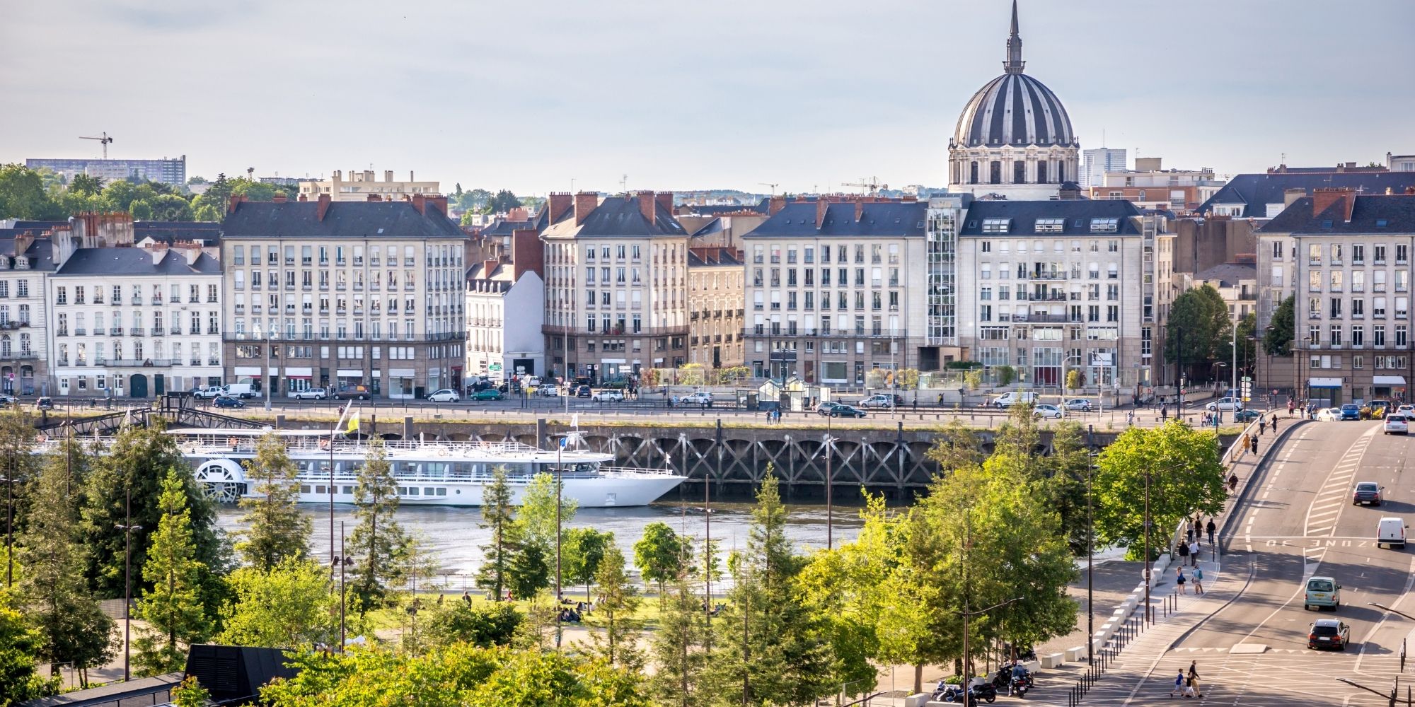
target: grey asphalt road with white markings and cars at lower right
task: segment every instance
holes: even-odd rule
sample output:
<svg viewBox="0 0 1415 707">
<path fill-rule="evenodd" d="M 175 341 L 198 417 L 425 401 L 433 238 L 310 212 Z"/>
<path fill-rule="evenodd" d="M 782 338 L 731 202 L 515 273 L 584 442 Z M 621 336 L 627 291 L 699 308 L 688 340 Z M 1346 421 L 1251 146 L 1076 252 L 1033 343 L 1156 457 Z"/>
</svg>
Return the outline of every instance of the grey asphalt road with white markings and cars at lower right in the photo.
<svg viewBox="0 0 1415 707">
<path fill-rule="evenodd" d="M 1159 655 L 1129 655 L 1125 669 L 1085 704 L 1146 704 L 1167 699 L 1179 669 L 1197 660 L 1204 700 L 1224 706 L 1387 704 L 1337 677 L 1390 690 L 1402 642 L 1415 650 L 1415 622 L 1370 607 L 1415 614 L 1415 546 L 1375 547 L 1382 516 L 1415 516 L 1405 478 L 1415 438 L 1385 436 L 1375 421 L 1310 423 L 1289 436 L 1254 479 L 1248 502 L 1221 539 L 1231 601 Z M 1415 472 L 1415 469 L 1412 469 Z M 1353 506 L 1351 486 L 1385 486 L 1381 508 Z M 1343 585 L 1337 611 L 1303 608 L 1305 578 Z M 1346 652 L 1306 648 L 1310 622 L 1337 618 L 1351 628 Z M 1136 645 L 1135 648 L 1139 648 Z M 1415 663 L 1415 660 L 1412 660 Z M 1415 684 L 1415 665 L 1405 673 Z M 1064 699 L 1064 696 L 1061 696 Z M 1405 687 L 1401 687 L 1404 704 Z"/>
</svg>

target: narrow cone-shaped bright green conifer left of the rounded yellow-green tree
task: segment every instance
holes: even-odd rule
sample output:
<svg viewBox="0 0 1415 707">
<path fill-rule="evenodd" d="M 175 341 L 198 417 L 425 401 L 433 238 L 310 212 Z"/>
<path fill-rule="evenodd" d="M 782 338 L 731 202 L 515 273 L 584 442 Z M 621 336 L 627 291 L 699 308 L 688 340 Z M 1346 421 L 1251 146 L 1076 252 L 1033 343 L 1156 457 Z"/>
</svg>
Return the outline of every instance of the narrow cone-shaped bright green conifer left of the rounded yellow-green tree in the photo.
<svg viewBox="0 0 1415 707">
<path fill-rule="evenodd" d="M 136 642 L 142 674 L 180 670 L 187 662 L 180 645 L 200 643 L 212 629 L 200 601 L 201 563 L 194 557 L 191 509 L 177 469 L 163 479 L 158 506 L 163 519 L 143 564 L 143 580 L 150 587 L 137 600 L 137 618 L 147 622 Z"/>
</svg>

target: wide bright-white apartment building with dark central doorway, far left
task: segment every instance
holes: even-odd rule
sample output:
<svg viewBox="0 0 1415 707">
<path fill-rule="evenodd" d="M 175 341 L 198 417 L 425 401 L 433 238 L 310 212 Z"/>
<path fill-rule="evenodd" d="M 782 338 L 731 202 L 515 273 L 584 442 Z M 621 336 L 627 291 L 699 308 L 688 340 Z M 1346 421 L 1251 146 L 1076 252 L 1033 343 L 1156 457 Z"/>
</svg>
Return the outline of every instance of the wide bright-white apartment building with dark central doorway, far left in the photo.
<svg viewBox="0 0 1415 707">
<path fill-rule="evenodd" d="M 127 214 L 52 236 L 48 366 L 58 396 L 157 397 L 222 380 L 222 269 L 200 243 L 133 245 Z"/>
</svg>

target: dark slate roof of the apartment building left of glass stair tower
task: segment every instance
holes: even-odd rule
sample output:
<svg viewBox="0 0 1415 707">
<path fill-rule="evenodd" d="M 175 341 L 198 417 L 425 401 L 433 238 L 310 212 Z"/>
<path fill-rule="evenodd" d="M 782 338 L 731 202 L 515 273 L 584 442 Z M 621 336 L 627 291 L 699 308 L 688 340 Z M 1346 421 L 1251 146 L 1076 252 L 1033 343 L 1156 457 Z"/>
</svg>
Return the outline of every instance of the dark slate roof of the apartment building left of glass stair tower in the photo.
<svg viewBox="0 0 1415 707">
<path fill-rule="evenodd" d="M 815 225 L 815 201 L 788 202 L 774 216 L 741 236 L 809 238 L 809 236 L 923 236 L 928 204 L 923 201 L 863 202 L 860 218 L 855 218 L 853 201 L 831 202 L 819 228 Z"/>
</svg>

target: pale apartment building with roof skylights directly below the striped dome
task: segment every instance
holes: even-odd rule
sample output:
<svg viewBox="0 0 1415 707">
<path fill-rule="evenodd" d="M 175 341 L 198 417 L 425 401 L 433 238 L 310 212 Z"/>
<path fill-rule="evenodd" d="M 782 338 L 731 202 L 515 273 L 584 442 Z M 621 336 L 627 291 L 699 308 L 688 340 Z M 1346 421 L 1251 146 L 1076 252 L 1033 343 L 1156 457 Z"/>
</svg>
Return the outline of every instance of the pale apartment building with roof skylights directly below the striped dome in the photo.
<svg viewBox="0 0 1415 707">
<path fill-rule="evenodd" d="M 1129 389 L 1150 376 L 1145 233 L 1128 201 L 975 201 L 958 236 L 958 335 L 1032 386 Z M 1149 334 L 1146 334 L 1149 332 Z"/>
</svg>

